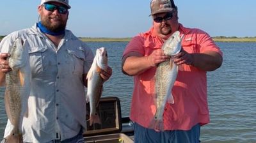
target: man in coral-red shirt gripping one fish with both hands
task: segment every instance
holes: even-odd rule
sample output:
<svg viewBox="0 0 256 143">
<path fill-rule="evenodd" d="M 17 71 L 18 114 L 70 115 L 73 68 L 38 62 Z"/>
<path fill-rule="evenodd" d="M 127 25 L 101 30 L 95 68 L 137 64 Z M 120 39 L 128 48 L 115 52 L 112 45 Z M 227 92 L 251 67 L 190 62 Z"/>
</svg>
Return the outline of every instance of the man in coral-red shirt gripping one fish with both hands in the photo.
<svg viewBox="0 0 256 143">
<path fill-rule="evenodd" d="M 178 22 L 173 0 L 152 0 L 153 26 L 128 43 L 122 58 L 122 71 L 134 77 L 131 120 L 135 142 L 200 142 L 200 126 L 209 123 L 206 72 L 222 64 L 222 52 L 211 36 Z M 165 56 L 161 46 L 175 31 L 184 34 L 179 54 Z M 156 113 L 154 79 L 157 64 L 170 60 L 179 66 L 172 88 L 174 104 L 166 103 L 164 131 L 149 128 Z"/>
</svg>

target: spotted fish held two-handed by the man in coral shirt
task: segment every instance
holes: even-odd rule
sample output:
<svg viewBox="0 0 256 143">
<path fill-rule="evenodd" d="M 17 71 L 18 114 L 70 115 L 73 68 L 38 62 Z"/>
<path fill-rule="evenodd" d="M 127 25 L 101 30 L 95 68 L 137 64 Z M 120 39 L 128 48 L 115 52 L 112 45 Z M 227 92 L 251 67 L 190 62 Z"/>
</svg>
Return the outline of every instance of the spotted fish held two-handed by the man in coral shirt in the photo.
<svg viewBox="0 0 256 143">
<path fill-rule="evenodd" d="M 181 40 L 179 31 L 168 38 L 161 47 L 166 56 L 174 56 L 181 50 Z M 178 66 L 173 62 L 164 61 L 158 64 L 155 76 L 155 92 L 156 92 L 156 114 L 150 123 L 150 128 L 163 130 L 163 112 L 166 102 L 174 103 L 172 95 L 172 87 L 177 78 Z"/>
</svg>

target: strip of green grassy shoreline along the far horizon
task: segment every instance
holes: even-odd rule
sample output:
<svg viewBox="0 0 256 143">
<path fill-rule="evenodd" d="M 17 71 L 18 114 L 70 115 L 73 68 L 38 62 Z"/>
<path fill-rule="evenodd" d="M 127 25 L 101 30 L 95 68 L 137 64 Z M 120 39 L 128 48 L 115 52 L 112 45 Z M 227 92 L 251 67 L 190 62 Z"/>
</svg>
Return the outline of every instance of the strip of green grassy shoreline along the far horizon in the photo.
<svg viewBox="0 0 256 143">
<path fill-rule="evenodd" d="M 4 36 L 0 36 L 0 41 L 4 38 Z M 122 42 L 122 41 L 130 41 L 131 38 L 90 38 L 90 37 L 79 37 L 80 40 L 86 41 L 86 42 Z M 236 36 L 227 37 L 227 36 L 214 36 L 212 39 L 216 42 L 256 42 L 256 36 L 255 37 L 243 37 L 239 38 Z"/>
</svg>

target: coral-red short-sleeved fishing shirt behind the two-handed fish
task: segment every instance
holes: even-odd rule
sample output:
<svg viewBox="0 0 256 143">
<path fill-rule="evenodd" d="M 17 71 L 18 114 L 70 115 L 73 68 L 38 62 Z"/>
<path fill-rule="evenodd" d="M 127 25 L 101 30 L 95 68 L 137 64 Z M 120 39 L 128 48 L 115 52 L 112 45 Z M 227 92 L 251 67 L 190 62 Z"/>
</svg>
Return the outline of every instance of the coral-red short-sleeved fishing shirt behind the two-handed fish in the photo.
<svg viewBox="0 0 256 143">
<path fill-rule="evenodd" d="M 211 36 L 200 29 L 189 29 L 179 24 L 180 35 L 184 34 L 182 47 L 189 53 L 200 53 L 206 50 L 218 52 L 220 48 L 212 41 Z M 156 36 L 153 27 L 146 33 L 132 38 L 124 50 L 123 56 L 129 52 L 139 52 L 144 56 L 154 50 L 161 49 L 163 40 Z M 134 76 L 134 92 L 131 102 L 131 120 L 148 127 L 154 114 L 154 75 L 156 68 L 150 68 L 140 75 Z M 207 105 L 206 72 L 193 66 L 179 66 L 177 79 L 172 89 L 174 104 L 166 103 L 164 111 L 164 130 L 190 130 L 197 123 L 209 123 Z"/>
</svg>

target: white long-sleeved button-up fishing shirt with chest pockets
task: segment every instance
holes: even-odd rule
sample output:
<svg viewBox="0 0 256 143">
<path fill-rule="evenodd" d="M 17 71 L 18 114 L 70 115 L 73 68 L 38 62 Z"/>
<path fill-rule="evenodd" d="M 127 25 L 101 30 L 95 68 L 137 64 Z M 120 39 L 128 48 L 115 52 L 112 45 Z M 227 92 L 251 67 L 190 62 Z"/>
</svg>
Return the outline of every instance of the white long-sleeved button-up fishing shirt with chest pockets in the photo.
<svg viewBox="0 0 256 143">
<path fill-rule="evenodd" d="M 56 133 L 61 140 L 74 137 L 81 126 L 86 128 L 82 75 L 92 65 L 92 50 L 68 30 L 55 47 L 35 25 L 4 37 L 0 51 L 8 52 L 17 37 L 28 41 L 32 72 L 28 117 L 22 123 L 24 142 L 49 142 Z M 8 121 L 4 137 L 11 131 Z"/>
</svg>

